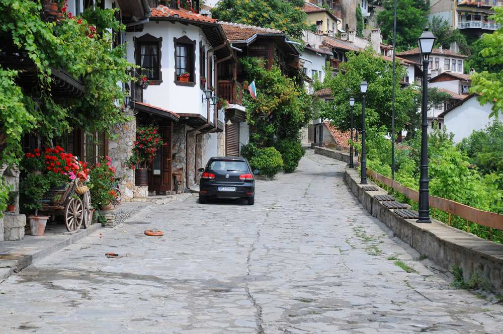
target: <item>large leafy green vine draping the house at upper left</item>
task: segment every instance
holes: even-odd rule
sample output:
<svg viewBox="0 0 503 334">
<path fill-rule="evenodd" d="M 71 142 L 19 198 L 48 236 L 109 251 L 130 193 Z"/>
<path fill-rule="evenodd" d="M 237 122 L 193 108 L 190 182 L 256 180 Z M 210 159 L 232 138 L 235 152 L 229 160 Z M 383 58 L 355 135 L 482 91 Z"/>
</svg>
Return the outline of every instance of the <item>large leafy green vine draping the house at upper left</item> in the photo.
<svg viewBox="0 0 503 334">
<path fill-rule="evenodd" d="M 124 59 L 122 48 L 112 48 L 112 31 L 123 29 L 114 17 L 117 9 L 89 8 L 82 17 L 67 15 L 57 24 L 42 21 L 40 11 L 40 0 L 0 0 L 0 51 L 26 54 L 37 87 L 25 90 L 17 80 L 20 71 L 0 69 L 0 164 L 19 163 L 21 138 L 32 131 L 48 142 L 75 128 L 109 131 L 124 120 L 116 104 L 124 99 L 117 82 L 127 82 L 135 65 Z M 54 96 L 53 68 L 82 77 L 86 95 Z M 5 187 L 2 182 L 0 212 Z"/>
</svg>

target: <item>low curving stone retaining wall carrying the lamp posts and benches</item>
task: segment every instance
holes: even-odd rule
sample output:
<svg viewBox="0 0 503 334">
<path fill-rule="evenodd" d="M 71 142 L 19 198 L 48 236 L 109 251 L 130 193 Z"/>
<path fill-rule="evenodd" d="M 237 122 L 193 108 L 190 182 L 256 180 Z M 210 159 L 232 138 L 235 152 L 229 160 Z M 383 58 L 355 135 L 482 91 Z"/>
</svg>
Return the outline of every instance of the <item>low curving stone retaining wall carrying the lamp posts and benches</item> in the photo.
<svg viewBox="0 0 503 334">
<path fill-rule="evenodd" d="M 318 154 L 327 156 L 333 154 L 329 152 L 333 150 L 327 148 L 318 148 L 318 151 Z M 348 153 L 338 153 L 336 156 L 349 157 Z M 386 224 L 417 252 L 449 270 L 456 264 L 463 269 L 465 281 L 475 273 L 481 273 L 492 284 L 493 292 L 503 294 L 503 244 L 482 239 L 433 218 L 431 224 L 425 224 L 416 223 L 416 219 L 398 217 L 374 199 L 374 195 L 387 194 L 385 190 L 365 191 L 361 188 L 360 173 L 356 169 L 346 168 L 346 183 L 372 216 Z M 374 185 L 369 180 L 368 183 Z"/>
</svg>

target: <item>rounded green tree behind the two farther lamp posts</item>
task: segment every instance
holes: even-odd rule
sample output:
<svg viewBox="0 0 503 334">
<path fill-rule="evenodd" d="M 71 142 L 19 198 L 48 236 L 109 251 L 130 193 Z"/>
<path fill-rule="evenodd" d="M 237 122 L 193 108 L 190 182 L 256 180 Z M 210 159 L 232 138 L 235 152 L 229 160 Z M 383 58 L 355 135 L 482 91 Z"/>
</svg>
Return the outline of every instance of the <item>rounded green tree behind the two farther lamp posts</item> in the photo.
<svg viewBox="0 0 503 334">
<path fill-rule="evenodd" d="M 373 54 L 371 48 L 364 51 L 349 52 L 348 61 L 341 64 L 342 71 L 328 81 L 327 86 L 334 96 L 333 106 L 325 108 L 321 116 L 331 120 L 332 125 L 341 131 L 350 129 L 351 112 L 349 99 L 353 96 L 356 100 L 354 107 L 354 125 L 358 131 L 362 130 L 362 94 L 360 83 L 367 80 L 369 87 L 365 99 L 366 125 L 391 133 L 392 110 L 392 63 L 379 55 Z M 403 129 L 409 121 L 407 111 L 412 107 L 417 92 L 411 87 L 399 89 L 400 78 L 405 75 L 405 69 L 396 65 L 395 70 L 395 131 Z"/>
</svg>

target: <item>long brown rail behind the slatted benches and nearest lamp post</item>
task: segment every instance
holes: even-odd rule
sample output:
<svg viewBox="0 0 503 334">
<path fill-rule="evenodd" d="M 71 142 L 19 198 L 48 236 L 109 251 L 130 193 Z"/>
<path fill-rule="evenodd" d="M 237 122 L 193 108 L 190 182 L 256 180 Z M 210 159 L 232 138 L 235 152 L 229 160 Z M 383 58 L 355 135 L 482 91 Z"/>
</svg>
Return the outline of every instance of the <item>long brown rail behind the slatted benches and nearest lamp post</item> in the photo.
<svg viewBox="0 0 503 334">
<path fill-rule="evenodd" d="M 419 192 L 410 188 L 403 186 L 402 184 L 376 173 L 367 168 L 367 176 L 372 178 L 392 189 L 399 192 L 400 194 L 410 198 L 412 201 L 419 201 Z M 449 213 L 449 223 L 451 221 L 451 214 L 458 217 L 466 219 L 468 221 L 474 222 L 476 224 L 486 226 L 489 228 L 496 228 L 503 230 L 503 214 L 497 214 L 494 212 L 483 211 L 479 209 L 472 208 L 468 205 L 464 205 L 458 202 L 447 200 L 445 198 L 429 195 L 430 207 L 439 209 Z"/>
</svg>

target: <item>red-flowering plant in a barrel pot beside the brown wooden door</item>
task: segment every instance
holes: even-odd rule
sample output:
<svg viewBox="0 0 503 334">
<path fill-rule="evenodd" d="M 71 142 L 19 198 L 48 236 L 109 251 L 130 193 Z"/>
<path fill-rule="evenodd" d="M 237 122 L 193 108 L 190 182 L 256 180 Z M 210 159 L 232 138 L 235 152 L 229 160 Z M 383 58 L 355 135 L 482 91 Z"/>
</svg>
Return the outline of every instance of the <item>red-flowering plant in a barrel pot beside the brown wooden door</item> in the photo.
<svg viewBox="0 0 503 334">
<path fill-rule="evenodd" d="M 148 186 L 148 169 L 157 150 L 165 145 L 159 128 L 154 125 L 138 126 L 133 155 L 126 160 L 126 165 L 135 170 L 136 186 Z"/>
</svg>

